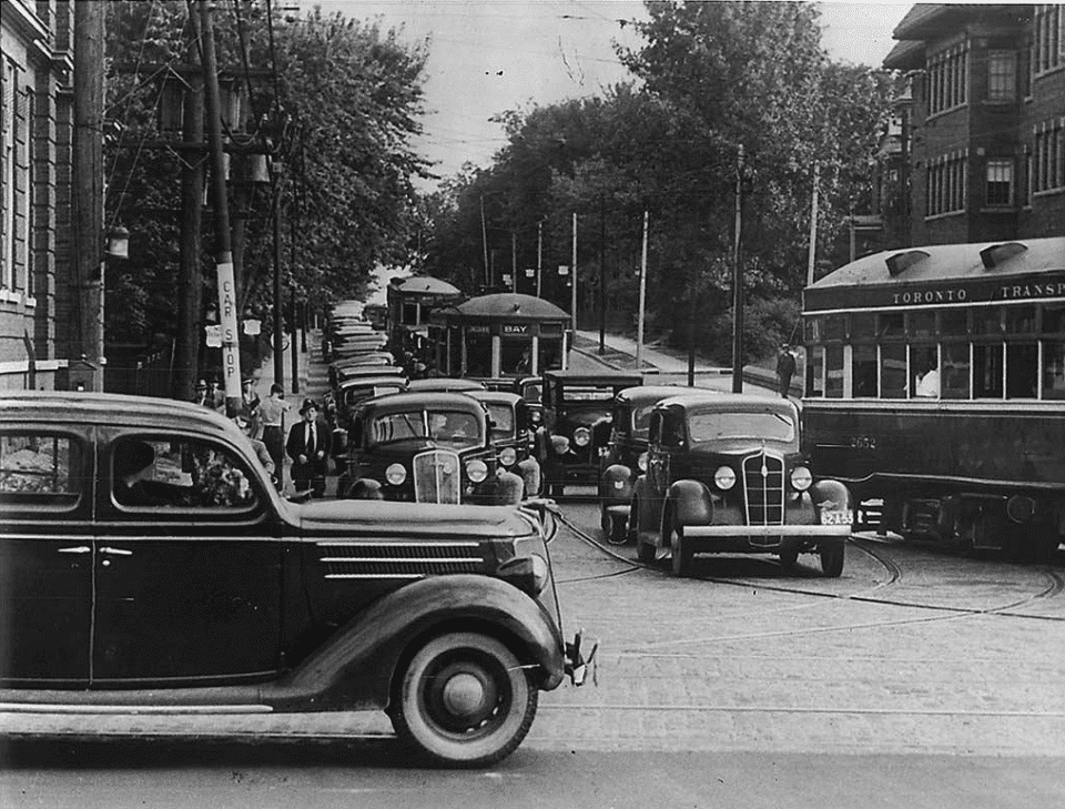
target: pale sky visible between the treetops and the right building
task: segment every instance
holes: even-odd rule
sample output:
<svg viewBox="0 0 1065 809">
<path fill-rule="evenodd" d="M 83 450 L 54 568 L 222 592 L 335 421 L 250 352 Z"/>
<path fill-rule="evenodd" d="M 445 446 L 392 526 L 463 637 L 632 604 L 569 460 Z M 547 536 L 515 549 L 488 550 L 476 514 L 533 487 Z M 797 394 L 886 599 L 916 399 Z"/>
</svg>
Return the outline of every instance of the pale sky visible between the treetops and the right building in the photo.
<svg viewBox="0 0 1065 809">
<path fill-rule="evenodd" d="M 598 94 L 626 80 L 613 42 L 641 40 L 623 20 L 647 19 L 640 0 L 300 0 L 345 17 L 381 19 L 400 38 L 429 38 L 424 134 L 416 148 L 443 176 L 466 162 L 478 166 L 506 139 L 490 119 Z M 912 3 L 821 3 L 822 44 L 832 59 L 879 67 L 891 32 Z"/>
</svg>

